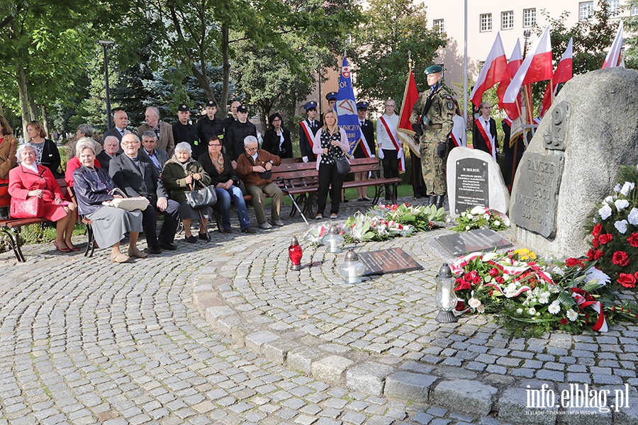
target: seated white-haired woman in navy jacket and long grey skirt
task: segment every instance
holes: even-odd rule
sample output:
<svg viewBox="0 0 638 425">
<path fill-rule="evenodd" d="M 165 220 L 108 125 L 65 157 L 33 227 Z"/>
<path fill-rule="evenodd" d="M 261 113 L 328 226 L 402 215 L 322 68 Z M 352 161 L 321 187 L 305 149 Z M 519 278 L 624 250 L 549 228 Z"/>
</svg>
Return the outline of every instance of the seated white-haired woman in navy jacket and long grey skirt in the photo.
<svg viewBox="0 0 638 425">
<path fill-rule="evenodd" d="M 93 222 L 93 234 L 98 246 L 111 246 L 111 261 L 125 263 L 134 256 L 148 256 L 138 249 L 138 237 L 142 232 L 142 211 L 126 211 L 103 205 L 120 195 L 111 195 L 115 188 L 108 171 L 95 165 L 94 141 L 84 137 L 77 142 L 77 158 L 82 166 L 73 173 L 74 190 L 79 213 Z M 152 207 L 151 207 L 152 208 Z M 128 232 L 128 255 L 120 251 L 120 241 Z"/>
</svg>

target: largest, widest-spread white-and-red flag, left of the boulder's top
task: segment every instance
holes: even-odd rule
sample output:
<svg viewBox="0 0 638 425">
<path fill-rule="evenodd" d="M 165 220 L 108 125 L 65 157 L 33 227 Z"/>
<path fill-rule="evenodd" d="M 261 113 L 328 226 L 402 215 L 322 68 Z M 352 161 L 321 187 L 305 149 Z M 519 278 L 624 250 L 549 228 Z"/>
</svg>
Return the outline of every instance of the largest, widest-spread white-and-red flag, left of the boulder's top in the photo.
<svg viewBox="0 0 638 425">
<path fill-rule="evenodd" d="M 503 95 L 503 103 L 514 103 L 521 86 L 552 78 L 552 41 L 549 39 L 549 25 L 536 42 L 531 55 L 527 55 L 520 68 L 512 77 Z"/>
</svg>

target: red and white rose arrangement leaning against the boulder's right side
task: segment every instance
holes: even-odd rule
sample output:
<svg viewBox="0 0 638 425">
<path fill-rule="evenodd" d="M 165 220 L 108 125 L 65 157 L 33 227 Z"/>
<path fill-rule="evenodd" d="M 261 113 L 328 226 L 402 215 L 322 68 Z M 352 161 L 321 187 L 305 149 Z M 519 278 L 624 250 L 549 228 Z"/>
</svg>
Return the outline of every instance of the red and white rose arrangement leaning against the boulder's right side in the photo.
<svg viewBox="0 0 638 425">
<path fill-rule="evenodd" d="M 607 273 L 612 282 L 625 288 L 638 283 L 638 171 L 622 166 L 613 193 L 605 198 L 593 216 L 590 261 Z"/>
</svg>

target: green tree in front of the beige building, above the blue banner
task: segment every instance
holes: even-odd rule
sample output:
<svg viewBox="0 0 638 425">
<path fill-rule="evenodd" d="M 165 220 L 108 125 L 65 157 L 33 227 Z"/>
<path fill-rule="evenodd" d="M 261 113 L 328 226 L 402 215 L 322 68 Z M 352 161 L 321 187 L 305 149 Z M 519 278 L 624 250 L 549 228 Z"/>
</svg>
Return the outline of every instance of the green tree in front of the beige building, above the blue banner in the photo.
<svg viewBox="0 0 638 425">
<path fill-rule="evenodd" d="M 366 23 L 354 38 L 352 69 L 362 98 L 403 98 L 408 50 L 415 61 L 418 87 L 427 86 L 423 71 L 446 40 L 427 24 L 425 6 L 411 0 L 371 0 Z"/>
</svg>

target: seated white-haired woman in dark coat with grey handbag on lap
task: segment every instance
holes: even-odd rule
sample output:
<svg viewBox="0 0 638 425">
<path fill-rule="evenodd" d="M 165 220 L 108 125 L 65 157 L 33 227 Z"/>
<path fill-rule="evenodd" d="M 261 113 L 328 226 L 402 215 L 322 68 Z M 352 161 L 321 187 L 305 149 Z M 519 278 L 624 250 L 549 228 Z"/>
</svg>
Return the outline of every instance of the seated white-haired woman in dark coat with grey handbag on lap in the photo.
<svg viewBox="0 0 638 425">
<path fill-rule="evenodd" d="M 193 149 L 188 142 L 179 142 L 175 146 L 173 157 L 164 165 L 162 183 L 170 198 L 181 205 L 179 215 L 181 222 L 184 223 L 184 239 L 194 244 L 197 238 L 191 232 L 191 221 L 199 220 L 199 239 L 207 241 L 209 238 L 206 225 L 208 217 L 211 217 L 211 208 L 195 210 L 186 201 L 186 192 L 191 191 L 194 185 L 196 185 L 195 189 L 208 186 L 211 184 L 211 176 L 208 176 L 201 164 L 191 157 L 192 154 Z M 203 186 L 196 182 L 202 183 Z"/>
</svg>

